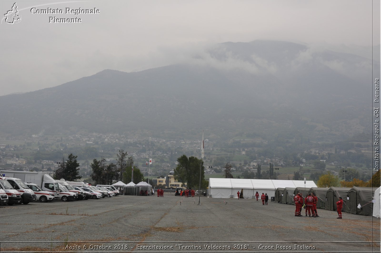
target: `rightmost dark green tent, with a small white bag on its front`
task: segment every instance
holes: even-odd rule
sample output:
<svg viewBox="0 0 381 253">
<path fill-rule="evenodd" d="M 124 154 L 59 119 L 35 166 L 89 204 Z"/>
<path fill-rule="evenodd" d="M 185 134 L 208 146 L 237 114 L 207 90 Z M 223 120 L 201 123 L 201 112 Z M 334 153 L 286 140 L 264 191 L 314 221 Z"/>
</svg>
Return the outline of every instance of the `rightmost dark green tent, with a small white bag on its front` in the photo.
<svg viewBox="0 0 381 253">
<path fill-rule="evenodd" d="M 373 189 L 372 187 L 352 187 L 348 191 L 349 200 L 347 200 L 345 211 L 357 215 L 371 216 L 373 207 L 372 199 L 375 195 L 375 190 Z M 357 207 L 359 204 L 361 208 Z"/>
</svg>

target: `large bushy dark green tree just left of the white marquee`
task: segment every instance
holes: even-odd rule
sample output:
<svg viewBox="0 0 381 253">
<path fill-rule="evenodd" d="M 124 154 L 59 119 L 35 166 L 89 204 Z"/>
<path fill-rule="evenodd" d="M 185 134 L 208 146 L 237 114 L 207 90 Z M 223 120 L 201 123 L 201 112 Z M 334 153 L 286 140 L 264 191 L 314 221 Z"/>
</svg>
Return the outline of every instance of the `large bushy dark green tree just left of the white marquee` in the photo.
<svg viewBox="0 0 381 253">
<path fill-rule="evenodd" d="M 200 176 L 201 181 L 204 180 L 204 162 L 197 157 L 191 156 L 188 158 L 186 155 L 182 155 L 177 161 L 179 163 L 174 169 L 174 179 L 184 185 L 186 184 L 188 188 L 198 188 Z"/>
</svg>

